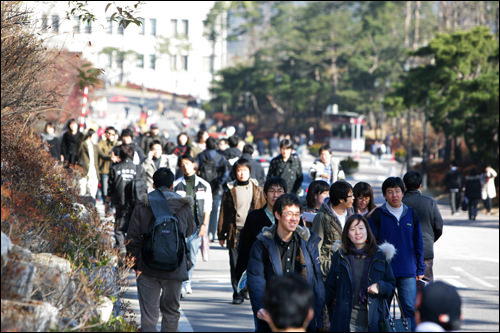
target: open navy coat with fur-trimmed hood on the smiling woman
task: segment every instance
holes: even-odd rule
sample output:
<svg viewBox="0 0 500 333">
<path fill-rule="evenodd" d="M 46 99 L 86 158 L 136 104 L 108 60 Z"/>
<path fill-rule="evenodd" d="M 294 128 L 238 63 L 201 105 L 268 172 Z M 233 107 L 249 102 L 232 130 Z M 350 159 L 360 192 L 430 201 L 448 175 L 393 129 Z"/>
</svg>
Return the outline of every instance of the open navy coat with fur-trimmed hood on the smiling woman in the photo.
<svg viewBox="0 0 500 333">
<path fill-rule="evenodd" d="M 326 303 L 335 300 L 335 306 L 330 318 L 330 332 L 349 332 L 351 312 L 353 307 L 352 271 L 349 259 L 340 249 L 340 241 L 335 242 L 332 265 L 325 282 Z M 394 255 L 392 244 L 379 246 L 368 270 L 368 285 L 378 283 L 378 295 L 368 293 L 368 331 L 378 332 L 378 322 L 383 316 L 383 298 L 388 298 L 394 292 L 396 279 L 392 273 L 389 261 Z"/>
</svg>

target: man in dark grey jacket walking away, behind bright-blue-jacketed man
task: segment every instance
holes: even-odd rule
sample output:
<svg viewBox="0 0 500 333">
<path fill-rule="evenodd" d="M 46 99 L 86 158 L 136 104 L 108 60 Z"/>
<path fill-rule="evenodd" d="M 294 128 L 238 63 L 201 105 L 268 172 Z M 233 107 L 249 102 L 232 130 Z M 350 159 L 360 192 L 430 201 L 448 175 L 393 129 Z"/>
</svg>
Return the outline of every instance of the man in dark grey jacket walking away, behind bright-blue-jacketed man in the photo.
<svg viewBox="0 0 500 333">
<path fill-rule="evenodd" d="M 419 189 L 422 184 L 422 176 L 420 173 L 413 170 L 408 171 L 404 175 L 403 181 L 406 187 L 403 203 L 414 209 L 420 218 L 422 242 L 424 246 L 424 280 L 432 282 L 434 280 L 434 274 L 432 272 L 434 243 L 443 233 L 443 218 L 441 217 L 436 201 L 420 193 Z"/>
</svg>

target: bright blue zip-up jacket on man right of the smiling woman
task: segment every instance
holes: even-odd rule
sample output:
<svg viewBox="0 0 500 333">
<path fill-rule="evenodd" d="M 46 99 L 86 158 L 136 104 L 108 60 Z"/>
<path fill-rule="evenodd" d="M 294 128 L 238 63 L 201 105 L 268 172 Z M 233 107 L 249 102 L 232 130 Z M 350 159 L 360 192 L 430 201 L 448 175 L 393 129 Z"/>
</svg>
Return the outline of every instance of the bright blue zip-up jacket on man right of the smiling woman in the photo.
<svg viewBox="0 0 500 333">
<path fill-rule="evenodd" d="M 377 243 L 389 242 L 397 250 L 391 262 L 396 278 L 424 275 L 424 248 L 418 215 L 405 204 L 399 221 L 389 210 L 387 202 L 370 216 L 370 228 Z M 377 220 L 379 222 L 377 222 Z"/>
</svg>

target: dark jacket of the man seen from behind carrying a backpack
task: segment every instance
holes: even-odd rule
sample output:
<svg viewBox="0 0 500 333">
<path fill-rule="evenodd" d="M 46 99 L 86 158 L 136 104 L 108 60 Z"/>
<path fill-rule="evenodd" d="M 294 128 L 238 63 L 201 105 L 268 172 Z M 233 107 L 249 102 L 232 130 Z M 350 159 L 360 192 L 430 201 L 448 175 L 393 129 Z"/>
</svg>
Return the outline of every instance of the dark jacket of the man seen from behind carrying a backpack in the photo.
<svg viewBox="0 0 500 333">
<path fill-rule="evenodd" d="M 185 237 L 189 237 L 195 230 L 195 222 L 191 205 L 193 200 L 191 197 L 181 197 L 175 192 L 168 190 L 165 192 L 168 198 L 168 204 L 172 213 L 179 220 L 179 229 Z M 186 261 L 183 260 L 173 272 L 159 271 L 149 268 L 142 259 L 143 235 L 148 232 L 149 224 L 153 221 L 154 215 L 151 206 L 148 204 L 138 204 L 135 206 L 130 218 L 130 225 L 127 231 L 127 252 L 135 257 L 136 269 L 142 271 L 146 275 L 162 279 L 185 281 L 188 279 L 188 271 Z"/>
</svg>

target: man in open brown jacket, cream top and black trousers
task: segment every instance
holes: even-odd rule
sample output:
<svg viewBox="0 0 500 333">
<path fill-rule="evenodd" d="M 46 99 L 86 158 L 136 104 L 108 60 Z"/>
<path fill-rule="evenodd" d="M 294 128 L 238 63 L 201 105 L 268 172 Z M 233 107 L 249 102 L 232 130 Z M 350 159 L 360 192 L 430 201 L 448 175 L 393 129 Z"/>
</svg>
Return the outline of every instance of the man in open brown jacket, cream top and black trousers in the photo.
<svg viewBox="0 0 500 333">
<path fill-rule="evenodd" d="M 226 246 L 229 250 L 233 304 L 241 304 L 244 301 L 243 295 L 238 293 L 236 275 L 240 232 L 245 225 L 248 213 L 254 209 L 262 208 L 266 204 L 262 195 L 262 187 L 259 187 L 255 179 L 250 178 L 250 169 L 248 160 L 239 159 L 234 163 L 233 170 L 236 180 L 226 184 L 219 215 L 219 243 L 224 246 L 227 241 Z"/>
</svg>

